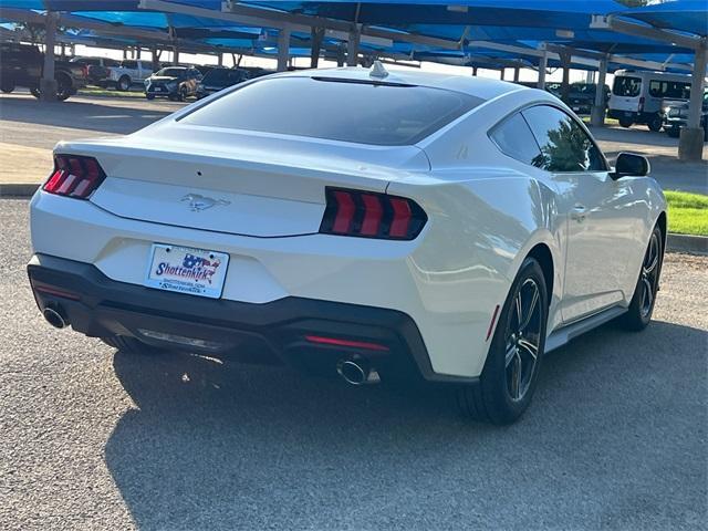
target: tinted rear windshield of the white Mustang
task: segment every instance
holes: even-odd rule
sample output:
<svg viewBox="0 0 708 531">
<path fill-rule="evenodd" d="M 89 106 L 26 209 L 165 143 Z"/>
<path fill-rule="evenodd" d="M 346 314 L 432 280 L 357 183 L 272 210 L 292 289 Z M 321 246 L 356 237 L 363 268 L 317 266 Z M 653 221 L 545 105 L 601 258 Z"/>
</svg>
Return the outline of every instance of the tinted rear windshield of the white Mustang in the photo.
<svg viewBox="0 0 708 531">
<path fill-rule="evenodd" d="M 396 146 L 415 144 L 480 103 L 468 94 L 424 86 L 275 77 L 230 92 L 181 121 Z"/>
</svg>

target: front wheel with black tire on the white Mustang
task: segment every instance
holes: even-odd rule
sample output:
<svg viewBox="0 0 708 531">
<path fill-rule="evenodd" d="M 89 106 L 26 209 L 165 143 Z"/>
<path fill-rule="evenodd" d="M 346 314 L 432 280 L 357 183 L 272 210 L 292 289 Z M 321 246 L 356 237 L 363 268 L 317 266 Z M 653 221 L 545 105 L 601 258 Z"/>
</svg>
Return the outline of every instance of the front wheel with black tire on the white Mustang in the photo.
<svg viewBox="0 0 708 531">
<path fill-rule="evenodd" d="M 652 314 L 654 313 L 654 304 L 656 303 L 656 292 L 659 287 L 659 277 L 662 274 L 662 263 L 664 261 L 664 237 L 658 226 L 654 227 L 649 242 L 647 243 L 644 258 L 642 259 L 642 269 L 639 270 L 639 279 L 632 295 L 632 302 L 627 313 L 618 320 L 622 327 L 634 332 L 646 329 Z M 647 296 L 649 300 L 647 301 Z"/>
</svg>

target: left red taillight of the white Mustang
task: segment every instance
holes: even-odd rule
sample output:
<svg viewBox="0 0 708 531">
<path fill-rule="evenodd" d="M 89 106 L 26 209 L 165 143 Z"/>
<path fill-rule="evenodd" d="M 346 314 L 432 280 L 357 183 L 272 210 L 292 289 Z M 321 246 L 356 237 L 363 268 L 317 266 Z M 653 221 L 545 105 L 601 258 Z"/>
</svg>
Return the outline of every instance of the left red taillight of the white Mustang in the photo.
<svg viewBox="0 0 708 531">
<path fill-rule="evenodd" d="M 55 155 L 54 173 L 42 189 L 58 196 L 87 199 L 106 178 L 98 162 L 80 155 Z"/>
</svg>

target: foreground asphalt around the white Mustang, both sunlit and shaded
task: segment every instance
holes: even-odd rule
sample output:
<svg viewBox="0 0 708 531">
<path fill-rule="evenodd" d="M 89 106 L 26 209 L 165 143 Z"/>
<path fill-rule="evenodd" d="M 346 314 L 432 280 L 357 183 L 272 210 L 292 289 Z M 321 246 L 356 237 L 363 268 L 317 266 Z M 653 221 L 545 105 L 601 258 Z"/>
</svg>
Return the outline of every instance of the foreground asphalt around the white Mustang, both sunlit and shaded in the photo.
<svg viewBox="0 0 708 531">
<path fill-rule="evenodd" d="M 654 323 L 549 355 L 529 413 L 496 428 L 444 391 L 116 353 L 40 317 L 27 200 L 0 200 L 0 529 L 708 521 L 706 258 L 669 254 Z"/>
</svg>

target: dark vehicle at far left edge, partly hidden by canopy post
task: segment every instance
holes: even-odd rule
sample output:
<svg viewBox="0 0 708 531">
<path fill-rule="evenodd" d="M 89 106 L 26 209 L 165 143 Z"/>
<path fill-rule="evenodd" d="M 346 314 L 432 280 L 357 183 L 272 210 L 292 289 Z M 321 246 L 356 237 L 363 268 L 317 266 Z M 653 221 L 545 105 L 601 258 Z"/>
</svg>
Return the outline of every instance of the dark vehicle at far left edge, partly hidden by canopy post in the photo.
<svg viewBox="0 0 708 531">
<path fill-rule="evenodd" d="M 0 43 L 0 88 L 4 93 L 25 86 L 34 97 L 40 96 L 40 80 L 44 71 L 44 54 L 31 44 Z M 66 100 L 86 86 L 88 67 L 71 61 L 54 61 L 56 97 Z"/>
</svg>

